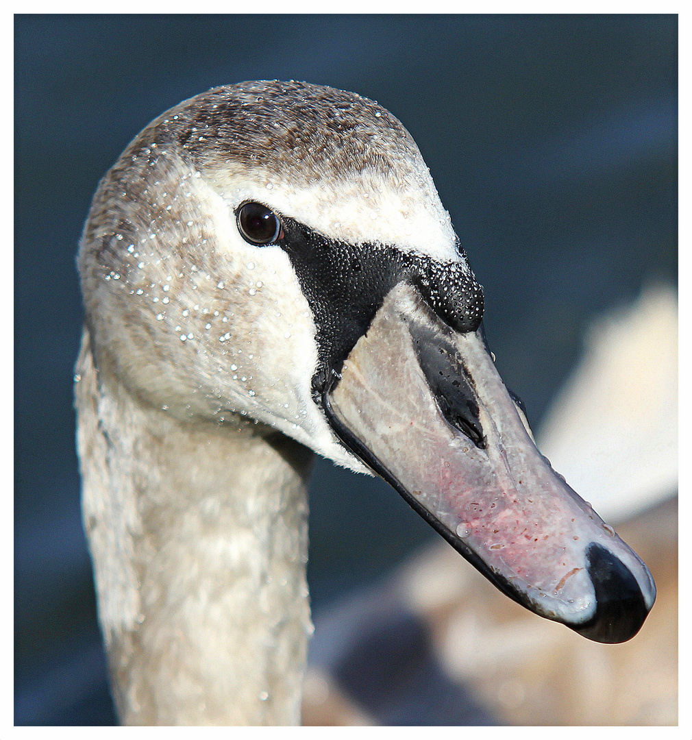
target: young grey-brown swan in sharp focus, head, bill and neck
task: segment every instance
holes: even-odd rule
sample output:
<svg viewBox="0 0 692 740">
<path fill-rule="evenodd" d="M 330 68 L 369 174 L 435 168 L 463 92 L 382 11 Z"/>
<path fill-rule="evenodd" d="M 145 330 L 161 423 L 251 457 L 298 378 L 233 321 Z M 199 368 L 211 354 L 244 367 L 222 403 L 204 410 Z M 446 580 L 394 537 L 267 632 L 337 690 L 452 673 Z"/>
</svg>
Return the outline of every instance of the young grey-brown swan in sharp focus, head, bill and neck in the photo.
<svg viewBox="0 0 692 740">
<path fill-rule="evenodd" d="M 639 630 L 651 575 L 534 447 L 377 103 L 278 81 L 181 103 L 101 181 L 78 267 L 84 522 L 124 723 L 300 721 L 312 451 L 382 476 L 535 613 Z"/>
</svg>

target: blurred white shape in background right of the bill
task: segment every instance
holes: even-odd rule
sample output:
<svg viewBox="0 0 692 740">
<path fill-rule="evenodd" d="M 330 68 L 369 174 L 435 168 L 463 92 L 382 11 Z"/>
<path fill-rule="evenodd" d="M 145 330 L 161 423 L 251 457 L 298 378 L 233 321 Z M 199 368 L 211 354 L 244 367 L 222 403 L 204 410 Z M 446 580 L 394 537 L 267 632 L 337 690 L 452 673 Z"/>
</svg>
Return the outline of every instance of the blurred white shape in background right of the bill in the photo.
<svg viewBox="0 0 692 740">
<path fill-rule="evenodd" d="M 606 522 L 677 491 L 677 346 L 676 291 L 650 286 L 592 324 L 541 426 L 542 454 Z"/>
</svg>

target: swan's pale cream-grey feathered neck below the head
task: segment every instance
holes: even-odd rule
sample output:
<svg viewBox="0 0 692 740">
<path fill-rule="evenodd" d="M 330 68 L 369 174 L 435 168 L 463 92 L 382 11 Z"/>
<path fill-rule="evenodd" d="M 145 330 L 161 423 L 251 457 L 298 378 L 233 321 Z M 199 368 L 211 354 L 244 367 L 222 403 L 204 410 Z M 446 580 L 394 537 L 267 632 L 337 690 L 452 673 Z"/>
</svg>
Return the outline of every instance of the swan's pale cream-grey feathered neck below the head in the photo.
<svg viewBox="0 0 692 740">
<path fill-rule="evenodd" d="M 298 724 L 312 453 L 184 423 L 97 372 L 75 389 L 84 526 L 124 724 Z"/>
</svg>

